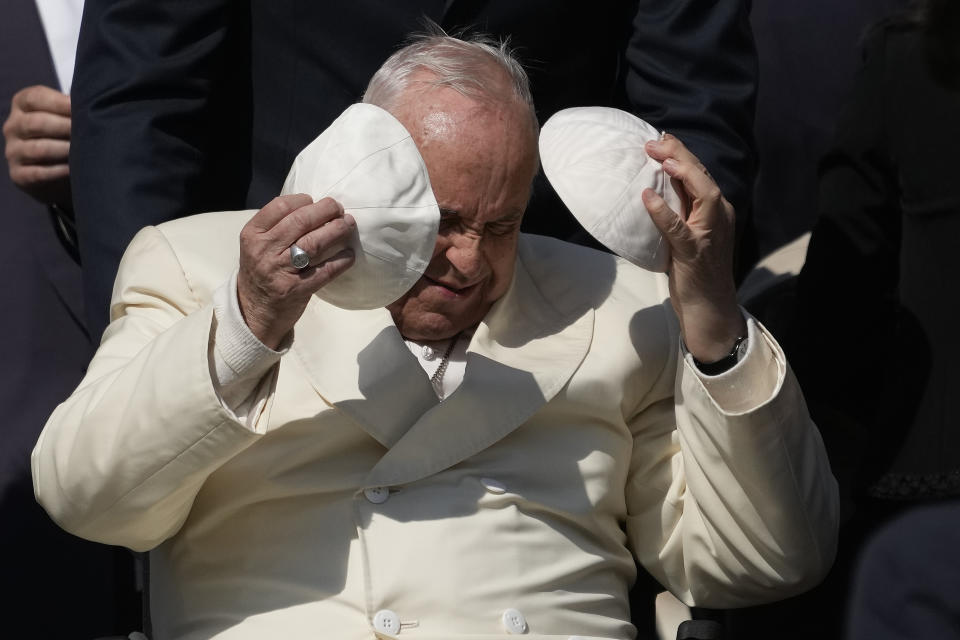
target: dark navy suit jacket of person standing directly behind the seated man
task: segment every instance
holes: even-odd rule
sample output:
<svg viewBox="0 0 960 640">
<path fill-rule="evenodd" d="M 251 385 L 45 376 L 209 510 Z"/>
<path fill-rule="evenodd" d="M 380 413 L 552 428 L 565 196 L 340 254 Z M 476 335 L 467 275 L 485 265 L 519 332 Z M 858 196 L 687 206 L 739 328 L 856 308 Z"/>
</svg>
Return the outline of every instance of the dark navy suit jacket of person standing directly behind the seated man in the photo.
<svg viewBox="0 0 960 640">
<path fill-rule="evenodd" d="M 745 208 L 756 76 L 748 4 L 88 0 L 71 160 L 94 333 L 140 227 L 265 204 L 424 15 L 510 35 L 541 120 L 569 106 L 630 109 L 683 139 Z M 556 202 L 540 182 L 525 229 L 575 233 Z"/>
</svg>

